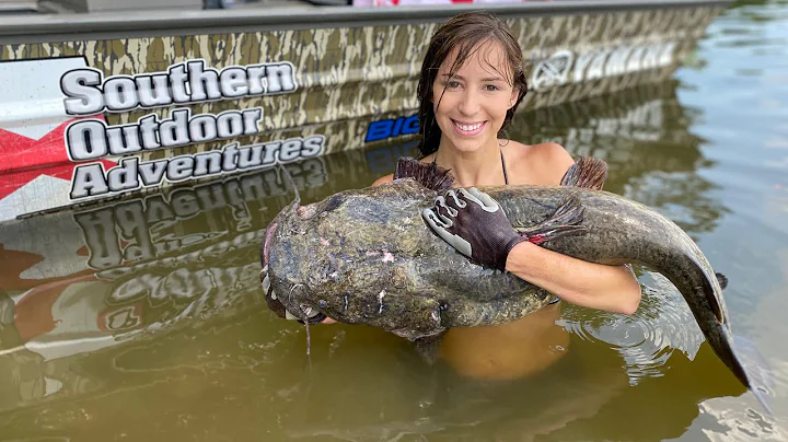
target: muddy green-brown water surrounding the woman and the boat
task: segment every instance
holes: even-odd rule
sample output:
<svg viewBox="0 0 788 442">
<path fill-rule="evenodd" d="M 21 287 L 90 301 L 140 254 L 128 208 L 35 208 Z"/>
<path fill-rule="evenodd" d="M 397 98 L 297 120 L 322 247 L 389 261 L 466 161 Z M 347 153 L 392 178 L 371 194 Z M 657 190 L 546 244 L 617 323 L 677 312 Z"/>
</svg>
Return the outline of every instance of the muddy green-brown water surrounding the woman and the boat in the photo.
<svg viewBox="0 0 788 442">
<path fill-rule="evenodd" d="M 607 190 L 698 242 L 730 279 L 732 325 L 760 351 L 748 360 L 776 420 L 648 271 L 634 316 L 563 305 L 552 327 L 569 342 L 549 351 L 565 354 L 529 379 L 427 367 L 362 326 L 312 327 L 308 361 L 304 327 L 259 290 L 263 230 L 292 196 L 267 171 L 26 221 L 4 239 L 0 440 L 788 440 L 788 3 L 732 8 L 707 31 L 671 81 L 523 114 L 510 135 L 606 160 Z M 369 185 L 413 146 L 290 172 L 314 201 Z M 11 256 L 30 235 L 82 247 Z M 21 269 L 48 274 L 25 286 Z"/>
</svg>

